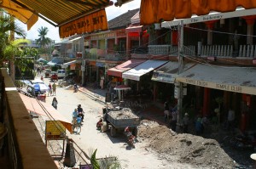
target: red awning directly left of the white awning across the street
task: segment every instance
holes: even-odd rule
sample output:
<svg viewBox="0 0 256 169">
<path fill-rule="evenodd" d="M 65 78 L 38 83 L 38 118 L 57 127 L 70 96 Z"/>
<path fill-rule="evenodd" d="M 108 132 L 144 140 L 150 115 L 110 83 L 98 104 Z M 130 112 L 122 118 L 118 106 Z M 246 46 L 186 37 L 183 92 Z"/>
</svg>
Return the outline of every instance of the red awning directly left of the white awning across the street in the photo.
<svg viewBox="0 0 256 169">
<path fill-rule="evenodd" d="M 122 77 L 122 73 L 126 70 L 130 70 L 131 68 L 142 64 L 146 60 L 144 59 L 131 59 L 126 62 L 124 62 L 121 65 L 117 65 L 113 68 L 108 69 L 108 76 L 118 76 Z"/>
</svg>

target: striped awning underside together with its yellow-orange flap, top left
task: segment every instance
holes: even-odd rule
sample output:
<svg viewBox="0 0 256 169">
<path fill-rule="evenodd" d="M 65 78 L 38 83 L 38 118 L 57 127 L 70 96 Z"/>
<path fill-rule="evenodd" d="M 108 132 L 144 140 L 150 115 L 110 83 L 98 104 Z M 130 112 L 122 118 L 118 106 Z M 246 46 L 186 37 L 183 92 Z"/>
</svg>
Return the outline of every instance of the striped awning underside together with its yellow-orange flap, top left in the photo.
<svg viewBox="0 0 256 169">
<path fill-rule="evenodd" d="M 40 16 L 52 25 L 61 26 L 104 9 L 111 5 L 109 2 L 109 0 L 3 0 L 0 4 L 2 8 L 6 6 L 5 9 L 9 14 L 13 14 L 15 18 L 31 27 L 37 22 L 32 17 Z M 8 6 L 8 4 L 12 5 Z M 15 13 L 17 9 L 19 14 Z M 29 14 L 23 16 L 26 13 Z"/>
</svg>

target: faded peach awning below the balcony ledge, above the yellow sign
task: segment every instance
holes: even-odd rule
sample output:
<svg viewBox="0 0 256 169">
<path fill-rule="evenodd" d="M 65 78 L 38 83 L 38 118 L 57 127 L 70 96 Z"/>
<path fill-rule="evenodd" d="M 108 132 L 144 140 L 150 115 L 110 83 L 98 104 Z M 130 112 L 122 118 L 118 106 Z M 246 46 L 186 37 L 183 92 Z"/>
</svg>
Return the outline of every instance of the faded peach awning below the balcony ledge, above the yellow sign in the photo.
<svg viewBox="0 0 256 169">
<path fill-rule="evenodd" d="M 64 127 L 67 128 L 69 132 L 72 132 L 72 125 L 67 119 L 60 114 L 59 111 L 55 110 L 50 104 L 46 104 L 37 99 L 30 98 L 24 94 L 20 93 L 20 98 L 26 106 L 26 110 L 32 111 L 38 115 L 51 116 L 51 120 L 61 121 Z"/>
</svg>

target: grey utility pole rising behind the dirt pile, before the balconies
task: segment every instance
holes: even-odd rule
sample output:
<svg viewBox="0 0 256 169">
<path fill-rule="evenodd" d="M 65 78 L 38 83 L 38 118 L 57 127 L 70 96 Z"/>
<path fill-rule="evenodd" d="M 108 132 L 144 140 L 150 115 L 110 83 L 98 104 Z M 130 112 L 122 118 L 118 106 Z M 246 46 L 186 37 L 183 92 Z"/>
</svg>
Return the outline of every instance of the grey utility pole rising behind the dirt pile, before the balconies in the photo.
<svg viewBox="0 0 256 169">
<path fill-rule="evenodd" d="M 183 72 L 183 20 L 178 25 L 178 75 Z M 183 110 L 183 83 L 176 83 L 177 89 L 177 127 L 179 128 L 182 121 Z"/>
</svg>

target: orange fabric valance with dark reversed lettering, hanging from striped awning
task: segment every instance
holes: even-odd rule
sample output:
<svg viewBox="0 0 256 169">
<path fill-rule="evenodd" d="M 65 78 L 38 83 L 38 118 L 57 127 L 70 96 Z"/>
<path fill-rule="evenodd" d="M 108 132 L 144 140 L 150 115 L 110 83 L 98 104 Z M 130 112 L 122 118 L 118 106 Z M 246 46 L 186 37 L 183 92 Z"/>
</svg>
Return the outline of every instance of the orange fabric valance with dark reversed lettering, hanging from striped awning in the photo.
<svg viewBox="0 0 256 169">
<path fill-rule="evenodd" d="M 75 34 L 90 33 L 92 31 L 108 30 L 108 20 L 105 9 L 96 13 L 85 15 L 78 20 L 73 20 L 60 26 L 60 37 L 70 37 Z"/>
</svg>

